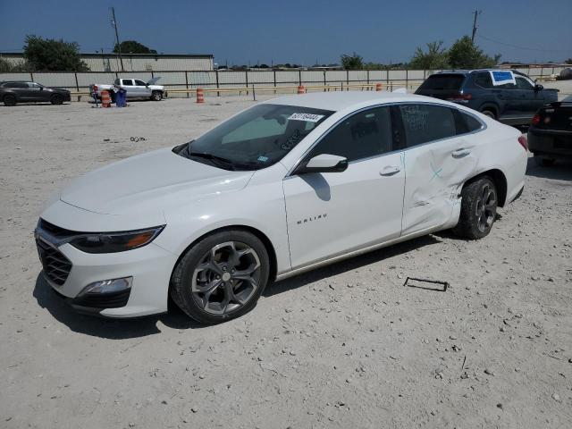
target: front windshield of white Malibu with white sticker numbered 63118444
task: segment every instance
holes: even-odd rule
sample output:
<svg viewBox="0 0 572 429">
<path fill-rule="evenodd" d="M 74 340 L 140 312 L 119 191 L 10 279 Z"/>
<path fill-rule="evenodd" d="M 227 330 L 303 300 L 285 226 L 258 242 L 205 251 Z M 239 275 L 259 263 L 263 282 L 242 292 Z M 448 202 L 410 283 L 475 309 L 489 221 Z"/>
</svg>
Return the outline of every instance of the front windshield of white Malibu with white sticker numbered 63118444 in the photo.
<svg viewBox="0 0 572 429">
<path fill-rule="evenodd" d="M 225 170 L 277 163 L 333 112 L 294 105 L 255 105 L 173 151 Z"/>
</svg>

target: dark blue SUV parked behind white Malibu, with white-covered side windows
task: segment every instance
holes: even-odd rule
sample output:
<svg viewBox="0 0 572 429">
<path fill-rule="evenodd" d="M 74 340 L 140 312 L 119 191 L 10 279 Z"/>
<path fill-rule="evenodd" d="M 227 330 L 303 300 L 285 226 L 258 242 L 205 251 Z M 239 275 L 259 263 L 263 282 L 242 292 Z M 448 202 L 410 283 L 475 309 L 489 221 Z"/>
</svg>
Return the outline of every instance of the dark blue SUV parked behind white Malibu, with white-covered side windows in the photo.
<svg viewBox="0 0 572 429">
<path fill-rule="evenodd" d="M 516 85 L 493 86 L 490 71 L 441 71 L 429 76 L 415 93 L 467 105 L 509 125 L 530 123 L 539 108 L 558 100 L 558 89 L 536 85 L 519 71 L 512 71 Z"/>
</svg>

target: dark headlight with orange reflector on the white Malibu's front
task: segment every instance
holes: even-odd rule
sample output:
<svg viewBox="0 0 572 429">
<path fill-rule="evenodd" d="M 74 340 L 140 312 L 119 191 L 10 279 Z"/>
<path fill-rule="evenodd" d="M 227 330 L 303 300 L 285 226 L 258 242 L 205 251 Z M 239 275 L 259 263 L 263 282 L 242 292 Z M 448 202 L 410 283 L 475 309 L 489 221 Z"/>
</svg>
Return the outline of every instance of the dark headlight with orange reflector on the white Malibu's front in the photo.
<svg viewBox="0 0 572 429">
<path fill-rule="evenodd" d="M 163 230 L 164 225 L 147 230 L 87 233 L 71 240 L 70 244 L 86 253 L 124 252 L 149 244 Z"/>
</svg>

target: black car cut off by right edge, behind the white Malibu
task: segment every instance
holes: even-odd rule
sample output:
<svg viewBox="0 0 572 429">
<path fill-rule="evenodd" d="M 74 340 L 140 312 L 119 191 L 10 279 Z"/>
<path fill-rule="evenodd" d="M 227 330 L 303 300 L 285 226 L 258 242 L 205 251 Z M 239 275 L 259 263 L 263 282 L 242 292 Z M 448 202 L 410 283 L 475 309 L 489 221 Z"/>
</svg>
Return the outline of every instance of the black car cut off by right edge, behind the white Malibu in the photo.
<svg viewBox="0 0 572 429">
<path fill-rule="evenodd" d="M 572 96 L 543 106 L 528 129 L 528 148 L 536 164 L 550 166 L 572 157 Z"/>
</svg>

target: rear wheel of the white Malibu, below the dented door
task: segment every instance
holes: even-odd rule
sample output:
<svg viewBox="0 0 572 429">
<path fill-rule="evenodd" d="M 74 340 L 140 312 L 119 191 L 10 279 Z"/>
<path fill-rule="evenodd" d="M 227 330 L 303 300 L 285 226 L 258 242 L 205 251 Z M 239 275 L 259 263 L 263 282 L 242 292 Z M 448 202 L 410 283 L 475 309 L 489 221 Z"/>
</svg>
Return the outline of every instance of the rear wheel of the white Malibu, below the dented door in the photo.
<svg viewBox="0 0 572 429">
<path fill-rule="evenodd" d="M 498 195 L 489 177 L 467 183 L 461 191 L 461 213 L 453 232 L 467 240 L 486 237 L 496 220 Z"/>
</svg>

